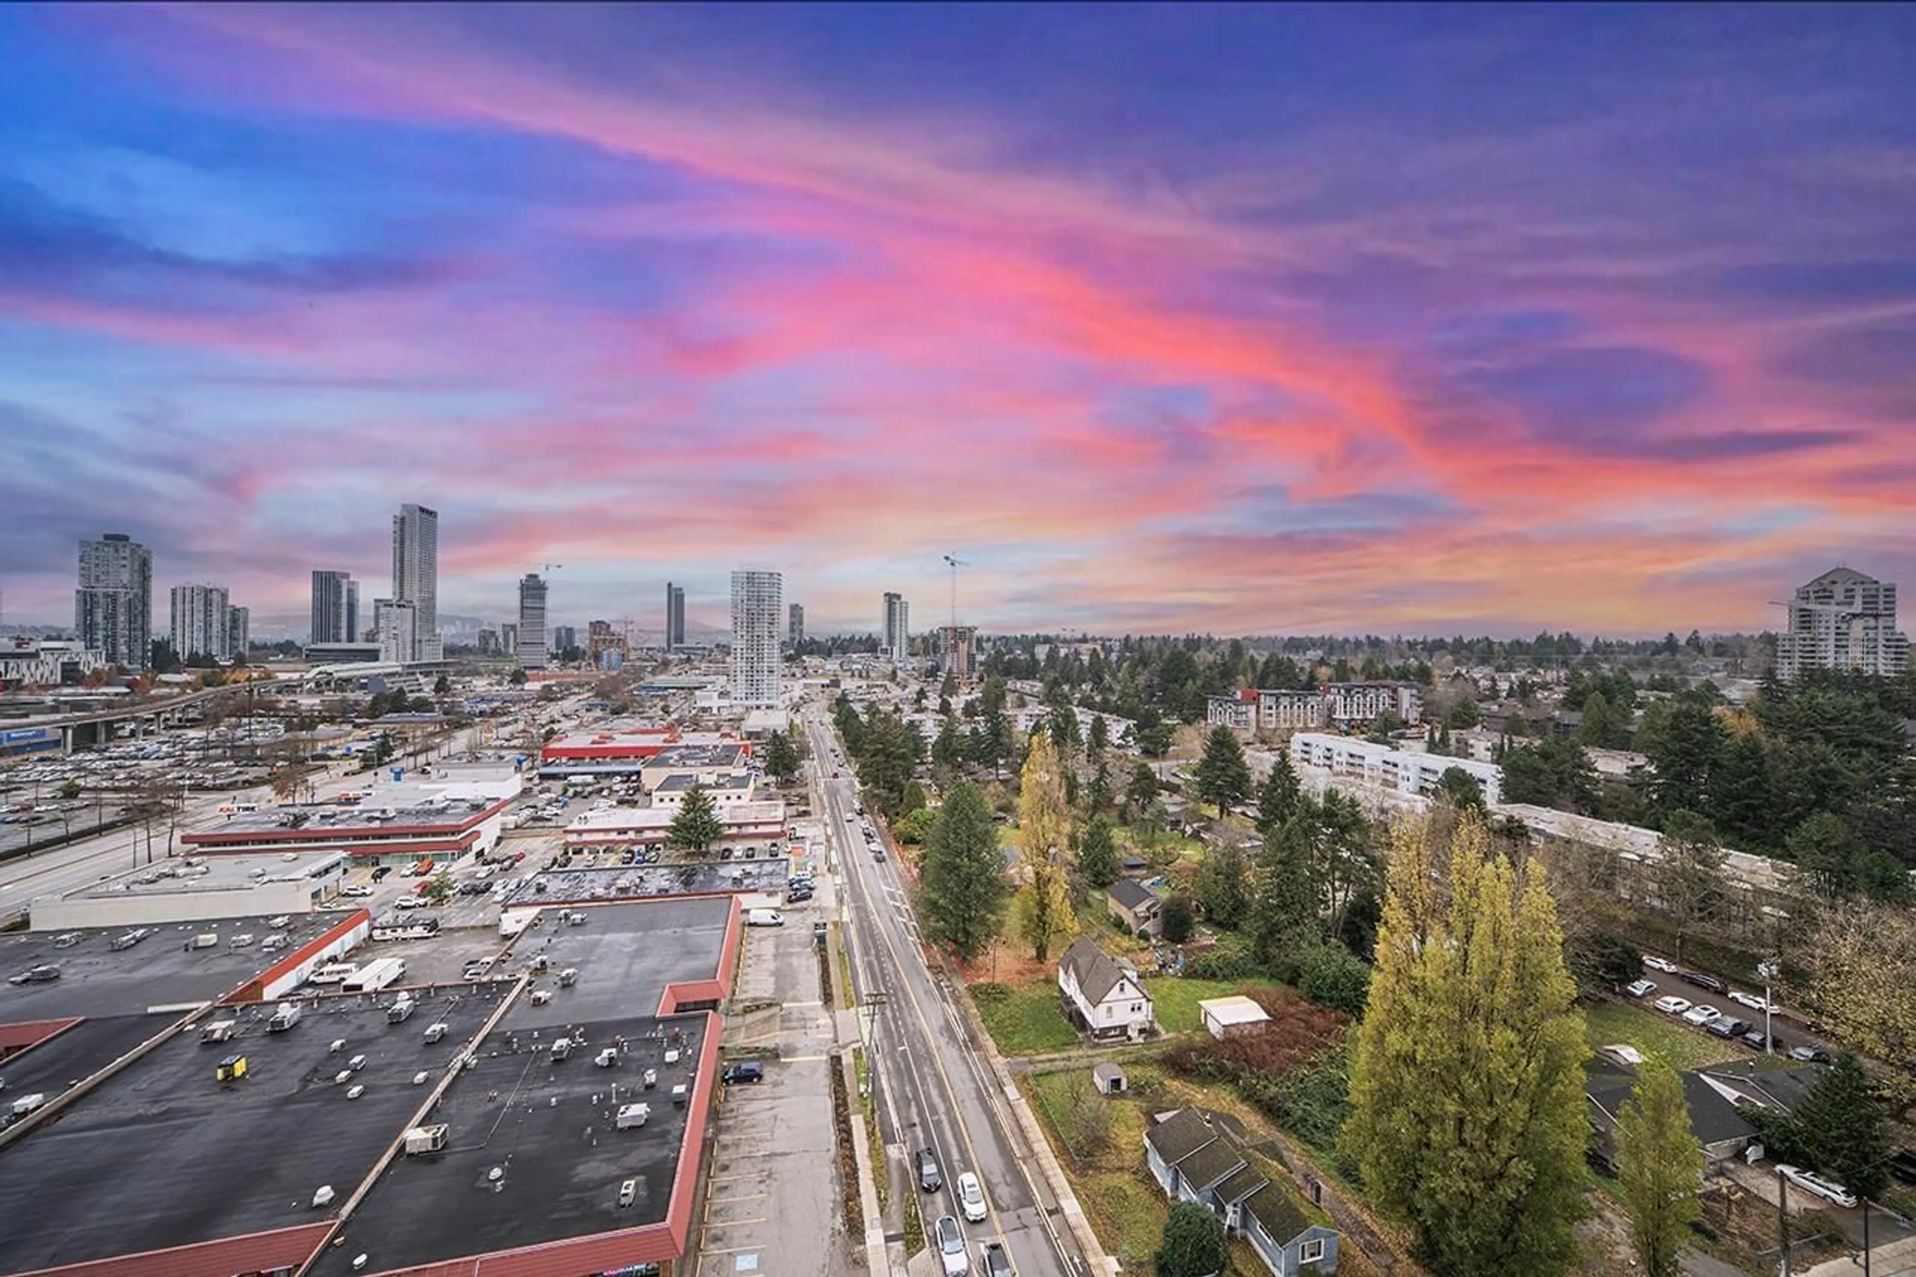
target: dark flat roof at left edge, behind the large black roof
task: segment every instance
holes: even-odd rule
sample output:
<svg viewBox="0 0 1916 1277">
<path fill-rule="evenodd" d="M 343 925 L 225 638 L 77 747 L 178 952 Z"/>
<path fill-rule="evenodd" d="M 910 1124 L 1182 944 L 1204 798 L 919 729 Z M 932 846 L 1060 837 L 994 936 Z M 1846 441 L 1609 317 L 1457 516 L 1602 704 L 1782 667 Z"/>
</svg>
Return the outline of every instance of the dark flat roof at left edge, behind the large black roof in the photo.
<svg viewBox="0 0 1916 1277">
<path fill-rule="evenodd" d="M 65 1016 L 161 1014 L 169 1007 L 184 1010 L 190 1003 L 230 993 L 347 917 L 351 911 L 295 913 L 282 928 L 268 926 L 268 918 L 159 922 L 148 924 L 146 930 L 151 934 L 146 940 L 117 953 L 109 947 L 111 940 L 134 928 L 0 934 L 0 976 L 40 964 L 59 968 L 59 980 L 50 984 L 0 984 L 0 1024 Z M 285 934 L 287 947 L 266 953 L 259 945 L 274 932 Z M 61 934 L 80 940 L 61 949 L 56 945 Z M 251 945 L 232 947 L 234 936 L 247 934 L 253 936 Z M 188 949 L 186 941 L 194 936 L 220 940 L 207 949 Z"/>
</svg>

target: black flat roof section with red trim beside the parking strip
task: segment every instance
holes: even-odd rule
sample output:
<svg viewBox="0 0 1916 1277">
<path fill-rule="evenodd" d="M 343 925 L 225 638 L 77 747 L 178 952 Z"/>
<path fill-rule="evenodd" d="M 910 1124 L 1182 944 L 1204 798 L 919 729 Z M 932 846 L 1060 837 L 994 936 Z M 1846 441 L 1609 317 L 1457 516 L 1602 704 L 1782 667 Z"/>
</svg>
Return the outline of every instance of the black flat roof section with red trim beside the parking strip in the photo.
<svg viewBox="0 0 1916 1277">
<path fill-rule="evenodd" d="M 556 911 L 554 911 L 556 913 Z M 596 905 L 582 926 L 548 915 L 512 949 L 512 970 L 535 957 L 546 972 L 479 1047 L 429 1122 L 445 1122 L 446 1150 L 397 1158 L 347 1221 L 345 1244 L 314 1265 L 347 1277 L 353 1258 L 389 1271 L 460 1256 L 584 1239 L 661 1223 L 680 1172 L 686 1120 L 713 1078 L 696 1080 L 705 1016 L 653 1018 L 667 984 L 718 974 L 732 901 L 680 899 Z M 558 972 L 577 970 L 573 987 Z M 550 1001 L 531 997 L 550 993 Z M 418 1016 L 416 1016 L 418 1018 Z M 582 1037 L 569 1058 L 552 1041 Z M 609 1068 L 594 1056 L 615 1047 Z M 676 1058 L 667 1060 L 667 1053 Z M 646 1070 L 657 1085 L 644 1087 Z M 688 1104 L 673 1104 L 673 1085 Z M 646 1126 L 617 1129 L 621 1104 L 646 1103 Z M 489 1173 L 502 1173 L 496 1185 Z M 630 1206 L 619 1185 L 636 1181 Z M 598 1265 L 596 1265 L 598 1267 Z"/>
</svg>

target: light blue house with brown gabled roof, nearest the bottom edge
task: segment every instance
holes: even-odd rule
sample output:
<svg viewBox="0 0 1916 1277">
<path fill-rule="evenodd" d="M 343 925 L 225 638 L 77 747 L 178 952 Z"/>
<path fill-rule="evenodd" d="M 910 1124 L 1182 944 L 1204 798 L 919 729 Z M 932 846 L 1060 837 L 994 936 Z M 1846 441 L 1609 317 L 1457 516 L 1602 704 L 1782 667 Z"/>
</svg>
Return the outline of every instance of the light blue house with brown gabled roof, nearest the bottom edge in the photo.
<svg viewBox="0 0 1916 1277">
<path fill-rule="evenodd" d="M 1215 1212 L 1276 1277 L 1337 1271 L 1337 1231 L 1312 1223 L 1297 1198 L 1259 1170 L 1247 1143 L 1228 1114 L 1178 1108 L 1144 1133 L 1144 1160 L 1165 1196 Z"/>
</svg>

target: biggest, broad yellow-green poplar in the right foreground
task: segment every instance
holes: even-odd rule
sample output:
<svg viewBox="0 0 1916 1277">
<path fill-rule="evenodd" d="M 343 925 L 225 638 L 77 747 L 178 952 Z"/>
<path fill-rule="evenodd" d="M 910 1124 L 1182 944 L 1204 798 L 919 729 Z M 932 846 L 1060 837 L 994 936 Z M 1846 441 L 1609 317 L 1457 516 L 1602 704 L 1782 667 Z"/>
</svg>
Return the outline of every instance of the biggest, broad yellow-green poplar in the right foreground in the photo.
<svg viewBox="0 0 1916 1277">
<path fill-rule="evenodd" d="M 1435 1277 L 1563 1273 L 1588 1122 L 1556 905 L 1475 817 L 1448 851 L 1439 884 L 1424 830 L 1393 830 L 1345 1149 Z"/>
</svg>

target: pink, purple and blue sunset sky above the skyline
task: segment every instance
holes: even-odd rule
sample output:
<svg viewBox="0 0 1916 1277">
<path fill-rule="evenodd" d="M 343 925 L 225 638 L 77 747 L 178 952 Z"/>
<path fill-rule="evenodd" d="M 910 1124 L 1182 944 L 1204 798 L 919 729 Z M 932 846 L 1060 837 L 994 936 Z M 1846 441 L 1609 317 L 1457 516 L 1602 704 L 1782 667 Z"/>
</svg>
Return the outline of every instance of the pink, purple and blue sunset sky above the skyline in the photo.
<svg viewBox="0 0 1916 1277">
<path fill-rule="evenodd" d="M 0 591 L 1761 629 L 1916 589 L 1916 10 L 0 10 Z"/>
</svg>

